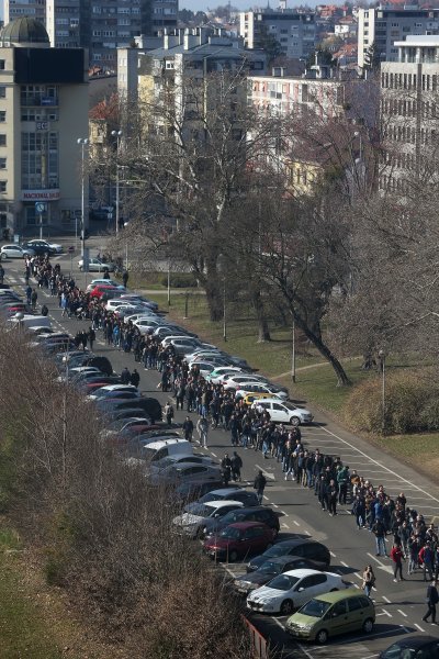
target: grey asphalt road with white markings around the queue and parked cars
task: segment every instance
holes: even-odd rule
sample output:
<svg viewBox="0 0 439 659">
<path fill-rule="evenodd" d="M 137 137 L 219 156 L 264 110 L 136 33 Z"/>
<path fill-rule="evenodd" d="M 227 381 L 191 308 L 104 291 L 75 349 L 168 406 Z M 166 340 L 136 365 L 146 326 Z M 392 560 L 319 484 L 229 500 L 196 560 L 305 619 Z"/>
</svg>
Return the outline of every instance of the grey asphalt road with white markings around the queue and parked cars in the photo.
<svg viewBox="0 0 439 659">
<path fill-rule="evenodd" d="M 56 257 L 54 260 L 59 260 L 63 269 L 70 269 L 69 256 Z M 77 260 L 78 258 L 75 257 L 74 272 L 78 284 L 82 287 L 86 284 L 87 276 L 77 270 Z M 4 261 L 3 267 L 5 280 L 18 290 L 23 289 L 22 264 Z M 94 275 L 88 275 L 88 281 L 91 278 L 94 278 Z M 40 303 L 47 304 L 54 327 L 61 327 L 75 335 L 79 327 L 88 326 L 87 323 L 61 319 L 57 299 L 50 298 L 45 291 L 38 291 Z M 106 355 L 117 372 L 121 372 L 125 366 L 128 369 L 134 367 L 133 355 L 109 348 L 100 336 L 94 351 Z M 139 372 L 142 391 L 165 403 L 169 394 L 158 392 L 158 372 L 143 369 L 139 369 Z M 182 421 L 185 413 L 177 412 L 176 415 L 177 421 Z M 195 416 L 192 414 L 194 423 Z M 340 456 L 351 469 L 357 469 L 373 483 L 382 483 L 391 495 L 396 496 L 404 491 L 408 505 L 416 507 L 428 520 L 435 523 L 439 521 L 439 488 L 436 484 L 398 460 L 390 458 L 351 433 L 341 429 L 320 413 L 315 414 L 315 421 L 313 426 L 302 428 L 307 448 L 320 448 L 324 453 Z M 211 456 L 219 460 L 230 448 L 228 433 L 219 429 L 210 432 L 207 453 Z M 244 461 L 244 480 L 250 484 L 258 469 L 262 469 L 267 477 L 264 503 L 282 515 L 280 539 L 286 538 L 289 534 L 302 534 L 323 541 L 330 549 L 330 569 L 344 574 L 344 578 L 352 581 L 356 587 L 361 583 L 361 573 L 367 563 L 373 566 L 376 574 L 376 590 L 372 595 L 376 606 L 376 624 L 373 633 L 368 636 L 342 636 L 330 640 L 324 647 L 296 644 L 283 632 L 284 617 L 251 615 L 256 626 L 263 634 L 270 635 L 277 647 L 283 650 L 283 657 L 374 659 L 398 636 L 421 633 L 439 636 L 438 626 L 421 621 L 426 611 L 426 584 L 423 574 L 417 572 L 408 577 L 405 563 L 406 581 L 394 583 L 390 559 L 375 557 L 374 537 L 365 529 L 357 530 L 349 506 L 340 506 L 339 514 L 329 517 L 327 512 L 320 510 L 313 491 L 291 481 L 285 482 L 280 463 L 275 459 L 264 460 L 260 453 L 251 449 L 240 449 L 238 453 Z M 387 541 L 387 549 L 390 548 L 391 544 Z M 245 572 L 241 563 L 229 563 L 224 568 L 230 576 Z"/>
</svg>

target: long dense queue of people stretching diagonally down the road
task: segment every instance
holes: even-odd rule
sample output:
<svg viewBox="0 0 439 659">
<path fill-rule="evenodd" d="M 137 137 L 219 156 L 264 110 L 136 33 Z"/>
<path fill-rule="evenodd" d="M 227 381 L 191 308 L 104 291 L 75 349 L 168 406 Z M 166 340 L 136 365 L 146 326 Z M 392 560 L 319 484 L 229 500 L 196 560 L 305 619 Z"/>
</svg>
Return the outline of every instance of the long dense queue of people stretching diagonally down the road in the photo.
<svg viewBox="0 0 439 659">
<path fill-rule="evenodd" d="M 439 576 L 439 537 L 434 524 L 427 524 L 423 514 L 407 505 L 403 492 L 395 499 L 384 487 L 374 485 L 356 470 L 350 471 L 339 457 L 324 455 L 318 448 L 307 449 L 299 427 L 274 424 L 269 412 L 236 400 L 234 392 L 222 384 L 206 381 L 195 366 L 178 356 L 172 345 L 162 345 L 158 337 L 142 334 L 131 322 L 119 317 L 114 311 L 105 309 L 105 301 L 93 297 L 91 291 L 81 290 L 72 277 L 64 277 L 59 264 L 52 266 L 48 257 L 33 257 L 25 261 L 26 282 L 33 276 L 37 287 L 46 288 L 50 295 L 58 298 L 63 315 L 80 317 L 90 322 L 89 333 L 77 333 L 78 347 L 93 347 L 95 333 L 102 332 L 108 345 L 124 353 L 132 353 L 134 359 L 145 370 L 159 372 L 158 388 L 170 394 L 165 406 L 165 416 L 170 423 L 176 410 L 185 411 L 188 416 L 182 425 L 184 436 L 192 440 L 194 425 L 191 413 L 199 415 L 196 431 L 200 444 L 207 447 L 211 427 L 229 433 L 234 448 L 260 451 L 266 459 L 274 459 L 281 465 L 285 480 L 293 480 L 303 488 L 314 491 L 323 511 L 337 515 L 338 505 L 348 505 L 357 528 L 368 529 L 375 538 L 376 556 L 390 557 L 394 565 L 394 580 L 404 580 L 402 563 L 407 561 L 407 574 L 421 569 L 424 580 L 434 581 Z M 29 287 L 31 288 L 31 287 Z M 29 299 L 35 289 L 26 289 Z M 32 298 L 32 299 L 35 299 Z M 35 299 L 36 302 L 36 299 Z M 137 371 L 136 371 L 137 373 Z M 171 400 L 173 399 L 173 400 Z M 243 461 L 234 451 L 226 454 L 222 461 L 225 482 L 230 478 L 240 480 Z M 261 478 L 262 476 L 262 478 Z M 259 472 L 255 488 L 260 501 L 264 488 L 264 477 Z M 393 546 L 386 550 L 387 536 Z M 363 574 L 364 590 L 375 582 L 371 566 Z"/>
</svg>

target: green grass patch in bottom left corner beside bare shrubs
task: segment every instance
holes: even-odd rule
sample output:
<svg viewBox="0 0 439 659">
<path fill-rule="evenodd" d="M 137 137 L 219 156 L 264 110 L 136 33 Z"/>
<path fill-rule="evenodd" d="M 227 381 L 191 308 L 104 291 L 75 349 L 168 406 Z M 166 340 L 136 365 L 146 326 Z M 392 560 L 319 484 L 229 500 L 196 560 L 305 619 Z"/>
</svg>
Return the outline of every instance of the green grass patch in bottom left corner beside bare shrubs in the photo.
<svg viewBox="0 0 439 659">
<path fill-rule="evenodd" d="M 10 528 L 0 528 L 0 657 L 57 659 L 63 652 L 52 625 L 23 587 L 18 563 L 20 543 Z"/>
</svg>

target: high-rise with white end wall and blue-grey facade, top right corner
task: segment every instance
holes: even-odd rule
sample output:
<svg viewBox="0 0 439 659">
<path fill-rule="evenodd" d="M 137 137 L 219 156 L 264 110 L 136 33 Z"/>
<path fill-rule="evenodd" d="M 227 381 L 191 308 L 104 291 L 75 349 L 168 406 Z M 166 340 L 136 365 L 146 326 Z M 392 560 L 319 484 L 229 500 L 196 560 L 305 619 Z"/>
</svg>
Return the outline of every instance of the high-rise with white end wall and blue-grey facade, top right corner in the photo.
<svg viewBox="0 0 439 659">
<path fill-rule="evenodd" d="M 358 13 L 358 66 L 364 67 L 364 58 L 372 44 L 382 62 L 396 62 L 398 47 L 395 42 L 408 35 L 438 34 L 439 9 L 413 7 L 376 7 L 360 9 Z"/>
</svg>

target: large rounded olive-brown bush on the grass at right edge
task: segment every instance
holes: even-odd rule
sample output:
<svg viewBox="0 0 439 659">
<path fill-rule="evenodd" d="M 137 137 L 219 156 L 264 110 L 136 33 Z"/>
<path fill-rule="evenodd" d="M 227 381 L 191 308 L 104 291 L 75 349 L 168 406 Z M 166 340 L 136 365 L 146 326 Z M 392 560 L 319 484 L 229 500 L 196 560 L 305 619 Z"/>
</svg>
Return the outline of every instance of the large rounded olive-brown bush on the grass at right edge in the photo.
<svg viewBox="0 0 439 659">
<path fill-rule="evenodd" d="M 342 414 L 354 431 L 381 433 L 381 376 L 356 387 Z M 387 372 L 384 423 L 385 432 L 391 435 L 439 428 L 439 387 L 428 372 Z"/>
</svg>

